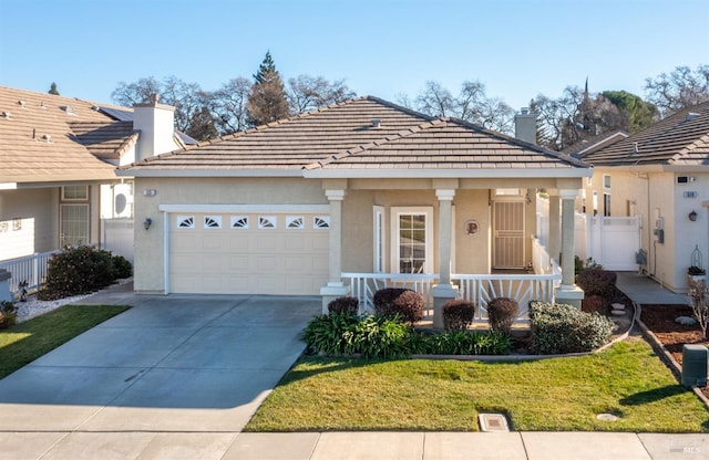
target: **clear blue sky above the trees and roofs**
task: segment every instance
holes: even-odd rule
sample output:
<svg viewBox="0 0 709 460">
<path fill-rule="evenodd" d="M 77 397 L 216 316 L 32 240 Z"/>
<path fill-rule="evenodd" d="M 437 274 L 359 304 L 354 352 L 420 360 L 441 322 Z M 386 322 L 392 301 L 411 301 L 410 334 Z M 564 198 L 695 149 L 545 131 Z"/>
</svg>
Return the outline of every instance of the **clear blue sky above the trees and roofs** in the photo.
<svg viewBox="0 0 709 460">
<path fill-rule="evenodd" d="M 709 64 L 707 0 L 0 0 L 0 85 L 104 103 L 143 76 L 214 91 L 267 50 L 284 79 L 389 101 L 477 80 L 514 108 Z"/>
</svg>

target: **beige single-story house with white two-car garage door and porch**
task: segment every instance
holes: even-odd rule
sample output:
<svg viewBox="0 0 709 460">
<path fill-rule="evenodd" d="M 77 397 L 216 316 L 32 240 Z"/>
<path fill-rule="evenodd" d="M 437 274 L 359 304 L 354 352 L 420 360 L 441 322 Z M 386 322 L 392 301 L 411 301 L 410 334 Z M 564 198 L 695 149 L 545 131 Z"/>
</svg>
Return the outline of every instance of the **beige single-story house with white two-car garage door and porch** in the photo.
<svg viewBox="0 0 709 460">
<path fill-rule="evenodd" d="M 517 118 L 535 133 L 534 116 Z M 472 291 L 491 284 L 474 283 L 532 264 L 533 197 L 545 188 L 564 202 L 562 290 L 579 299 L 573 205 L 590 169 L 462 121 L 361 97 L 117 174 L 135 177 L 136 222 L 151 223 L 135 229 L 140 292 L 325 302 L 390 276 L 432 280 L 435 299 L 455 284 L 481 300 Z"/>
</svg>

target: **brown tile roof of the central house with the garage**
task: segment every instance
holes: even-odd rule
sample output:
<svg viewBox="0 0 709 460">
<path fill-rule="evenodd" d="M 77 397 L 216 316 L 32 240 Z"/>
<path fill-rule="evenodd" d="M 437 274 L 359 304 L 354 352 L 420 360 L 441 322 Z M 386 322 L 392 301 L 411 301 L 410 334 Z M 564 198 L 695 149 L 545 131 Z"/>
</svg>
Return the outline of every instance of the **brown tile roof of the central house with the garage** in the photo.
<svg viewBox="0 0 709 460">
<path fill-rule="evenodd" d="M 474 176 L 474 170 L 588 166 L 558 153 L 452 118 L 430 116 L 364 96 L 119 168 L 124 176 L 356 177 L 392 170 Z M 413 174 L 413 170 L 425 171 Z M 467 172 L 464 172 L 467 170 Z M 337 172 L 336 172 L 337 171 Z M 432 172 L 434 171 L 434 172 Z M 395 175 L 394 175 L 395 176 Z M 527 174 L 528 176 L 528 174 Z"/>
</svg>

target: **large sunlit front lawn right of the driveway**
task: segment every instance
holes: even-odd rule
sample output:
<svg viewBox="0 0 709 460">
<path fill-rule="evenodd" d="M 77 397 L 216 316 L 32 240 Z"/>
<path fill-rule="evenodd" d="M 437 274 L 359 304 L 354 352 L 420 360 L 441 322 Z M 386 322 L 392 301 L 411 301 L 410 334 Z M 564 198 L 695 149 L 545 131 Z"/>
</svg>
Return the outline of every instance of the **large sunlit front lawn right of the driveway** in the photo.
<svg viewBox="0 0 709 460">
<path fill-rule="evenodd" d="M 487 411 L 521 431 L 709 431 L 703 404 L 639 338 L 524 363 L 304 357 L 246 430 L 475 431 Z"/>
</svg>

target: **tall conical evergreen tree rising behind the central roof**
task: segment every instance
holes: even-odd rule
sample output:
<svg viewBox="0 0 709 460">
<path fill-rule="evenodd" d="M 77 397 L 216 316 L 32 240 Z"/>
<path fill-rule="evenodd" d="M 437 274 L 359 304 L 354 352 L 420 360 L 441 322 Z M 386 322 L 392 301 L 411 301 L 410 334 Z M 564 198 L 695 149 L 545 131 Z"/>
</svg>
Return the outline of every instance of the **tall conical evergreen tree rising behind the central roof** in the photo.
<svg viewBox="0 0 709 460">
<path fill-rule="evenodd" d="M 270 52 L 254 75 L 255 83 L 246 106 L 247 122 L 251 126 L 265 125 L 288 116 L 288 100 Z"/>
</svg>

